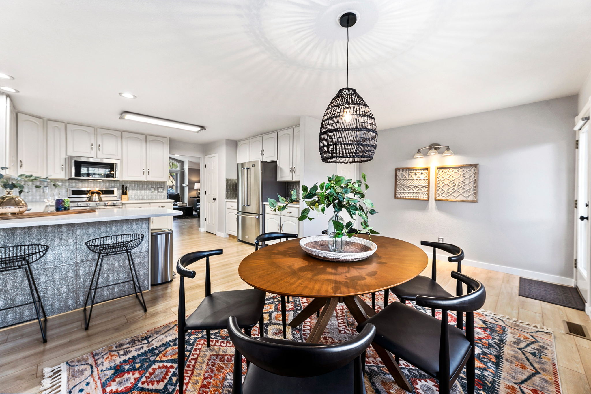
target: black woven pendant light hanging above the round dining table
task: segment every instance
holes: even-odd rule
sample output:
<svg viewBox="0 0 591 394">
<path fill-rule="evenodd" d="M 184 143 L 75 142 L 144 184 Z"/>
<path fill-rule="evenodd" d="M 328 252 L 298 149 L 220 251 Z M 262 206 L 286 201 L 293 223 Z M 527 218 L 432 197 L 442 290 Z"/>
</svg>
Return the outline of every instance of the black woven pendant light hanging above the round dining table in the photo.
<svg viewBox="0 0 591 394">
<path fill-rule="evenodd" d="M 320 123 L 320 157 L 326 163 L 362 163 L 374 158 L 378 143 L 375 118 L 365 100 L 349 87 L 349 27 L 357 21 L 353 12 L 339 18 L 347 28 L 347 87 L 332 99 Z"/>
</svg>

